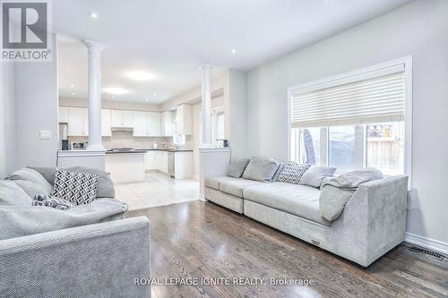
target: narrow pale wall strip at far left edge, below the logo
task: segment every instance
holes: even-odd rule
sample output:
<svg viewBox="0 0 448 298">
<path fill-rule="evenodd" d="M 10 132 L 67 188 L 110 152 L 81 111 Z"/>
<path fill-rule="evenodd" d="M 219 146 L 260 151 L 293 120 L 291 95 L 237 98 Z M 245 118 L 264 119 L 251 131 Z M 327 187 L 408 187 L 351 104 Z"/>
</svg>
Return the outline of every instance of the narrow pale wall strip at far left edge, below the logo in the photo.
<svg viewBox="0 0 448 298">
<path fill-rule="evenodd" d="M 14 64 L 0 62 L 0 179 L 15 161 Z"/>
</svg>

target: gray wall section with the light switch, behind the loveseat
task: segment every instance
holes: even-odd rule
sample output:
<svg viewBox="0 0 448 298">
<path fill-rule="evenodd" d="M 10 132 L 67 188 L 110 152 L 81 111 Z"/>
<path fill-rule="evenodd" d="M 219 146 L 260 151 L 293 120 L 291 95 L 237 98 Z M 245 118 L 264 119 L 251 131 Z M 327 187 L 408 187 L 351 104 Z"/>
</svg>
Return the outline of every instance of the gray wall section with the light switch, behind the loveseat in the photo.
<svg viewBox="0 0 448 298">
<path fill-rule="evenodd" d="M 53 35 L 51 63 L 15 65 L 16 168 L 56 166 L 58 130 L 56 60 L 56 35 Z M 39 140 L 40 130 L 51 131 L 51 140 Z"/>
</svg>

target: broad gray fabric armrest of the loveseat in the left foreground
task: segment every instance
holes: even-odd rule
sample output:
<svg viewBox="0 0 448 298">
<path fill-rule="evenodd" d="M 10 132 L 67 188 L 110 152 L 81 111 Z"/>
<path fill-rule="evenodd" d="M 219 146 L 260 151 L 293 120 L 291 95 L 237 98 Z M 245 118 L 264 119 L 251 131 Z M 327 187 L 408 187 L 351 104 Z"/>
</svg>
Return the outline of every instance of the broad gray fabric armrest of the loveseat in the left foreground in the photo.
<svg viewBox="0 0 448 298">
<path fill-rule="evenodd" d="M 146 217 L 0 241 L 1 297 L 149 297 Z"/>
</svg>

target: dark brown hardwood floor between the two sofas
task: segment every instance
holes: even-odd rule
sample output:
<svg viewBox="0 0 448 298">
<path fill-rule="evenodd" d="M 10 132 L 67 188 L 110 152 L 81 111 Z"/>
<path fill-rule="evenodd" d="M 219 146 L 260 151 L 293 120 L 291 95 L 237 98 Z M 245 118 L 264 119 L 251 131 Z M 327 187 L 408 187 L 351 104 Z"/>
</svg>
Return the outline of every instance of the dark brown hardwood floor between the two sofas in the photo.
<svg viewBox="0 0 448 298">
<path fill-rule="evenodd" d="M 152 285 L 152 297 L 448 297 L 448 259 L 403 243 L 369 268 L 200 200 L 130 211 L 151 225 L 151 277 L 264 278 L 267 285 Z M 314 285 L 270 285 L 270 278 Z M 232 282 L 230 282 L 232 284 Z"/>
</svg>

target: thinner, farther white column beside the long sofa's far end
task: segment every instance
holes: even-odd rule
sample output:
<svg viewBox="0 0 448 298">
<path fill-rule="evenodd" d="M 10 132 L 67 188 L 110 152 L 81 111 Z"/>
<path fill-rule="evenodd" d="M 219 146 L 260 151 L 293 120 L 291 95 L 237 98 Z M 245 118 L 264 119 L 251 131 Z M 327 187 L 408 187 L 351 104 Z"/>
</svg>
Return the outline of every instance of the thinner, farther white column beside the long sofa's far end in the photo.
<svg viewBox="0 0 448 298">
<path fill-rule="evenodd" d="M 211 65 L 202 64 L 202 148 L 211 148 Z"/>
</svg>

